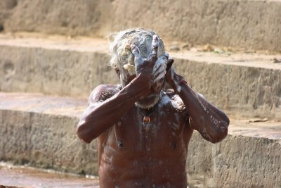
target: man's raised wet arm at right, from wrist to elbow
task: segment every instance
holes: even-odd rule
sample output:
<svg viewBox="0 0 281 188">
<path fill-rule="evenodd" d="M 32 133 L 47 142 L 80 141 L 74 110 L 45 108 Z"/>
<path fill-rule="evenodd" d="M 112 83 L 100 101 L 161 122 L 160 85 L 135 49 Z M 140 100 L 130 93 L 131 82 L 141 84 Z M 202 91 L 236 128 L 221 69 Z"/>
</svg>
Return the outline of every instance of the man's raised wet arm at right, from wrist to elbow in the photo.
<svg viewBox="0 0 281 188">
<path fill-rule="evenodd" d="M 171 61 L 173 60 L 169 60 L 170 64 L 174 62 Z M 174 72 L 174 68 L 169 69 L 166 79 L 183 100 L 190 115 L 190 127 L 200 132 L 209 142 L 216 143 L 224 139 L 230 123 L 228 116 L 194 92 L 183 77 Z"/>
</svg>

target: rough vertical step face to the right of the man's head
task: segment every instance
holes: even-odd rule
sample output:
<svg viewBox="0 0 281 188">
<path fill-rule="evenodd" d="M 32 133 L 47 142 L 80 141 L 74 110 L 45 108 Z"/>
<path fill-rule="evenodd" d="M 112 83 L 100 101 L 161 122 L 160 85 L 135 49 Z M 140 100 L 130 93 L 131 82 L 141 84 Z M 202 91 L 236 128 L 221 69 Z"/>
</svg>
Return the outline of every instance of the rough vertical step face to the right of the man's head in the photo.
<svg viewBox="0 0 281 188">
<path fill-rule="evenodd" d="M 232 116 L 281 120 L 281 65 L 273 69 L 232 65 L 228 61 L 176 58 L 174 66 L 192 89 Z"/>
</svg>

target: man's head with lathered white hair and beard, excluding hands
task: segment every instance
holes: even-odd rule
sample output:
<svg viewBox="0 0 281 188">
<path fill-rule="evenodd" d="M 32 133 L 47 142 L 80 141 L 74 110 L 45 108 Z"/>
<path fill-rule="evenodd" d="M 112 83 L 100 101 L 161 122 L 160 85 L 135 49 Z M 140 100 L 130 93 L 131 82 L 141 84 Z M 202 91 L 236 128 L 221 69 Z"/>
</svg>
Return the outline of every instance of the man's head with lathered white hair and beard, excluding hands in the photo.
<svg viewBox="0 0 281 188">
<path fill-rule="evenodd" d="M 152 52 L 153 35 L 157 35 L 157 33 L 143 28 L 133 28 L 117 32 L 108 37 L 110 42 L 110 65 L 117 71 L 123 86 L 129 84 L 129 82 L 136 77 L 134 56 L 131 51 L 131 45 L 134 44 L 138 47 L 142 58 L 148 58 Z M 160 57 L 163 55 L 164 44 L 162 39 L 159 38 L 157 56 Z M 159 61 L 160 60 L 161 58 L 159 58 Z M 136 104 L 141 108 L 150 108 L 154 106 L 159 100 L 159 92 L 162 89 L 163 83 L 164 77 L 152 86 L 152 92 L 148 94 L 148 96 L 140 99 L 140 101 Z"/>
</svg>

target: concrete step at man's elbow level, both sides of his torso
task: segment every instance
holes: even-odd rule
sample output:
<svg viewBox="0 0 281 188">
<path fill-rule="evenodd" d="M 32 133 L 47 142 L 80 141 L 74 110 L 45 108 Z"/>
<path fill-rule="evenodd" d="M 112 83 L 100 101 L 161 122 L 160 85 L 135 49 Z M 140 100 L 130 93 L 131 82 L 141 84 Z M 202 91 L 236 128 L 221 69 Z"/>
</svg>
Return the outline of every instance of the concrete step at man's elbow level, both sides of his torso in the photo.
<svg viewBox="0 0 281 188">
<path fill-rule="evenodd" d="M 86 99 L 0 93 L 0 160 L 97 175 L 96 141 L 79 142 L 75 127 Z M 188 149 L 190 187 L 278 187 L 281 122 L 230 120 L 223 142 L 195 132 Z"/>
</svg>

